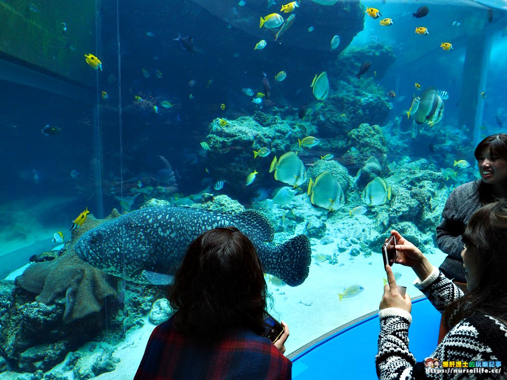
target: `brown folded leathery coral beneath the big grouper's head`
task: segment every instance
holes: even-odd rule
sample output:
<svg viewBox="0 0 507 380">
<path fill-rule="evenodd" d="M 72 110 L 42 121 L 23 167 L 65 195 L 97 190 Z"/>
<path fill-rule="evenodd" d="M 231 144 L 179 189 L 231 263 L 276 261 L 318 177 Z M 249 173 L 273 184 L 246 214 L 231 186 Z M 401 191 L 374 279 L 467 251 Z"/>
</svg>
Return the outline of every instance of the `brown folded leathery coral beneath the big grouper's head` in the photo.
<svg viewBox="0 0 507 380">
<path fill-rule="evenodd" d="M 63 255 L 52 261 L 31 264 L 16 279 L 17 284 L 31 293 L 39 294 L 35 297 L 38 302 L 50 304 L 55 298 L 64 296 L 63 321 L 66 323 L 100 311 L 106 297 L 117 296 L 115 278 L 81 260 L 74 253 L 74 246 L 85 232 L 118 216 L 120 214 L 116 209 L 104 219 L 88 215 L 83 225 L 73 230 Z"/>
</svg>

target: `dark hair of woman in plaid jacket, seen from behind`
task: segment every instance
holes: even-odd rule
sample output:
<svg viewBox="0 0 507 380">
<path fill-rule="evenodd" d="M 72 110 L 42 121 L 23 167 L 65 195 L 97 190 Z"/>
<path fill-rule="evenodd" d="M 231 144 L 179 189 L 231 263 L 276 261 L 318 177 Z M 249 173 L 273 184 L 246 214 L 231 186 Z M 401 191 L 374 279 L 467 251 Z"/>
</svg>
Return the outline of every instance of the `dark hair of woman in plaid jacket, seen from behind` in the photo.
<svg viewBox="0 0 507 380">
<path fill-rule="evenodd" d="M 230 327 L 264 332 L 267 286 L 250 240 L 235 227 L 205 232 L 187 248 L 168 296 L 186 335 L 216 338 Z"/>
</svg>

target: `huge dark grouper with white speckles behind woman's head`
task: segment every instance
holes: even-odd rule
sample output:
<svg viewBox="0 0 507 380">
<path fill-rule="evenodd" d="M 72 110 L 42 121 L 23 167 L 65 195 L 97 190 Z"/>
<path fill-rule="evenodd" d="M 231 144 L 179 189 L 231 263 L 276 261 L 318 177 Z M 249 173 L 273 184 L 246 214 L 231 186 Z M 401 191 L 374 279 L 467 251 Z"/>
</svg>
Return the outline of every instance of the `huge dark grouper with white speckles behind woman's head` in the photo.
<svg viewBox="0 0 507 380">
<path fill-rule="evenodd" d="M 205 231 L 232 225 L 256 247 L 264 271 L 297 286 L 308 277 L 310 241 L 298 235 L 278 246 L 266 244 L 274 228 L 262 213 L 226 214 L 187 207 L 150 207 L 107 221 L 84 234 L 76 253 L 95 268 L 138 283 L 164 283 L 189 244 Z"/>
</svg>

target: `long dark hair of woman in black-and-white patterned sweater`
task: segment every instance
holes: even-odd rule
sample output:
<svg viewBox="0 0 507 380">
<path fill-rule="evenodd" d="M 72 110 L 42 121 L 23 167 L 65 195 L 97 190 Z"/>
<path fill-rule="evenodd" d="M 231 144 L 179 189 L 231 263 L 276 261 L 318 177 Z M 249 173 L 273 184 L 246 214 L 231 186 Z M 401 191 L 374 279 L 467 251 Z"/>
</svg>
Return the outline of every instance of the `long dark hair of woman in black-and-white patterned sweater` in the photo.
<svg viewBox="0 0 507 380">
<path fill-rule="evenodd" d="M 463 242 L 477 254 L 478 287 L 447 306 L 448 328 L 473 314 L 507 317 L 507 200 L 489 203 L 468 221 Z"/>
</svg>

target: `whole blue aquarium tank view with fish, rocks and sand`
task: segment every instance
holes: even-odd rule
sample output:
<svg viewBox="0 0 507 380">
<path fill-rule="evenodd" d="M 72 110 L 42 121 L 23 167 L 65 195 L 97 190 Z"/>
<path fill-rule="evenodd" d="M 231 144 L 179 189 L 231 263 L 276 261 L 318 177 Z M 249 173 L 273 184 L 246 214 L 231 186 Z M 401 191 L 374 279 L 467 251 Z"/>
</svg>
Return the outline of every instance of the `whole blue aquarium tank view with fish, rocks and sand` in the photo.
<svg viewBox="0 0 507 380">
<path fill-rule="evenodd" d="M 506 9 L 0 2 L 0 379 L 132 378 L 216 226 L 256 246 L 286 354 L 378 309 L 391 229 L 438 267 L 447 197 L 505 132 Z"/>
</svg>

